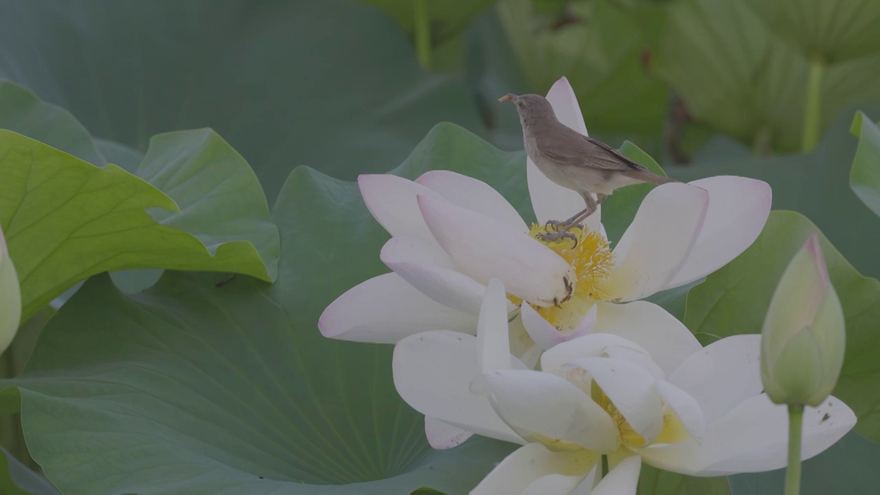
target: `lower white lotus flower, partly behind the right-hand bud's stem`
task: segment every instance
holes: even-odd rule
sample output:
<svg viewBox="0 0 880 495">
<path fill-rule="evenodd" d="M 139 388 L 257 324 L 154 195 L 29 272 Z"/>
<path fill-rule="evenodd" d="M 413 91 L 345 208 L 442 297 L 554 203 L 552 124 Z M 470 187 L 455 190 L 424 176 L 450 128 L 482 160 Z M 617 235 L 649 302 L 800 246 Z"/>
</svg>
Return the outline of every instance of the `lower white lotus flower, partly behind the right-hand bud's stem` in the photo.
<svg viewBox="0 0 880 495">
<path fill-rule="evenodd" d="M 761 392 L 759 335 L 698 344 L 673 359 L 665 342 L 693 339 L 690 332 L 671 317 L 643 321 L 558 344 L 533 371 L 510 354 L 506 303 L 492 280 L 477 336 L 428 331 L 394 348 L 394 384 L 431 428 L 524 445 L 472 495 L 634 494 L 642 462 L 700 477 L 786 465 L 788 416 Z M 803 459 L 854 424 L 839 399 L 807 408 Z M 603 454 L 610 472 L 598 481 Z"/>
</svg>

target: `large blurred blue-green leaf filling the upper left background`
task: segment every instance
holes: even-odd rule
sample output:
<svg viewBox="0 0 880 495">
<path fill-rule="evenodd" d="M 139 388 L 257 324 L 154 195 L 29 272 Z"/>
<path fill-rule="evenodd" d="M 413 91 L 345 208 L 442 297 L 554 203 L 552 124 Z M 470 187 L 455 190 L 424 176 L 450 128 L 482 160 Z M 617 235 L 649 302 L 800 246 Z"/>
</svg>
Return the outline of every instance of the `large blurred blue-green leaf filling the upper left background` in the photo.
<svg viewBox="0 0 880 495">
<path fill-rule="evenodd" d="M 0 77 L 139 152 L 160 132 L 215 129 L 270 201 L 296 166 L 353 179 L 399 164 L 436 122 L 480 129 L 392 18 L 344 0 L 13 1 Z"/>
</svg>

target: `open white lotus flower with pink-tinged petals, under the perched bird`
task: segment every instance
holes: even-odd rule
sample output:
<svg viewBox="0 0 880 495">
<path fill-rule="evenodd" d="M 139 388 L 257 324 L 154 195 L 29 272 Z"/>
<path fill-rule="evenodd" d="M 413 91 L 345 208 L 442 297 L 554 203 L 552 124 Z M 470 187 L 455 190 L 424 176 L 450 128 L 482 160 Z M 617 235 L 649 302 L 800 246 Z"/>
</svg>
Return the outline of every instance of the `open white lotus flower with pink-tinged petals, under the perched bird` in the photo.
<svg viewBox="0 0 880 495">
<path fill-rule="evenodd" d="M 586 134 L 565 78 L 547 98 L 561 122 Z M 547 179 L 531 161 L 526 166 L 539 225 L 583 208 L 574 191 Z M 571 240 L 548 244 L 535 238 L 542 227 L 526 225 L 495 189 L 450 171 L 415 181 L 362 175 L 358 183 L 373 217 L 392 234 L 381 258 L 393 273 L 336 299 L 321 315 L 323 335 L 390 344 L 425 329 L 473 335 L 486 283 L 498 278 L 509 292 L 511 316 L 521 307 L 511 344 L 530 365 L 554 344 L 601 330 L 594 325 L 617 326 L 652 311 L 614 302 L 691 283 L 730 262 L 758 237 L 771 203 L 765 182 L 744 177 L 664 184 L 645 197 L 612 250 L 599 211 L 576 247 Z"/>
</svg>

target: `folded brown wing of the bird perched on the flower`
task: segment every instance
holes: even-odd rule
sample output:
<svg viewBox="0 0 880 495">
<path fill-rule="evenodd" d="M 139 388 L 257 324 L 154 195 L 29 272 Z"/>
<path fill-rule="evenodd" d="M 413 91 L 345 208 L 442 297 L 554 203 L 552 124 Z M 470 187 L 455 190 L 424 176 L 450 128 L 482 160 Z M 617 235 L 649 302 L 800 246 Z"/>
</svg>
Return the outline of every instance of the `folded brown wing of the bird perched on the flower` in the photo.
<svg viewBox="0 0 880 495">
<path fill-rule="evenodd" d="M 608 144 L 583 136 L 574 129 L 553 129 L 536 137 L 538 151 L 547 159 L 571 166 L 595 166 L 605 170 L 647 170 Z"/>
</svg>

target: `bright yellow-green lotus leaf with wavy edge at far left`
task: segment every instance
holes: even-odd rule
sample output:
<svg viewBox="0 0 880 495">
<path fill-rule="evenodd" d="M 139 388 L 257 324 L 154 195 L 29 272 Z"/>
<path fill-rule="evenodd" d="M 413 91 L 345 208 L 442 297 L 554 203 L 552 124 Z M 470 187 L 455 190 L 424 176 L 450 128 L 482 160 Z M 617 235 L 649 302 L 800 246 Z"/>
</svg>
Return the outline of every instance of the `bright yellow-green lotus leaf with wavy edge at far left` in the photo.
<svg viewBox="0 0 880 495">
<path fill-rule="evenodd" d="M 224 153 L 222 146 L 228 145 L 219 137 L 202 134 L 216 140 L 206 152 Z M 165 139 L 180 136 L 192 135 Z M 182 184 L 187 183 L 185 179 L 178 178 Z M 228 225 L 206 225 L 195 237 L 150 218 L 147 209 L 180 210 L 172 198 L 147 182 L 117 166 L 98 168 L 0 130 L 0 225 L 21 283 L 22 319 L 77 281 L 103 271 L 215 270 L 272 280 L 274 260 L 269 258 L 268 266 L 264 264 L 256 246 L 271 256 L 276 233 L 271 232 L 274 227 L 268 221 L 265 199 L 241 194 L 253 189 L 249 186 L 253 184 L 219 188 L 220 192 L 228 190 L 227 199 L 234 200 L 245 214 Z M 198 207 L 201 198 L 191 199 L 194 203 L 185 206 Z M 264 218 L 260 218 L 260 204 Z M 174 223 L 172 217 L 159 218 Z M 238 240 L 229 241 L 233 234 L 238 234 Z M 260 242 L 241 240 L 254 235 Z"/>
</svg>

